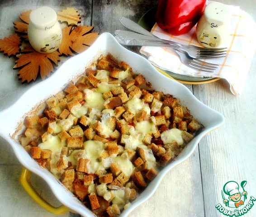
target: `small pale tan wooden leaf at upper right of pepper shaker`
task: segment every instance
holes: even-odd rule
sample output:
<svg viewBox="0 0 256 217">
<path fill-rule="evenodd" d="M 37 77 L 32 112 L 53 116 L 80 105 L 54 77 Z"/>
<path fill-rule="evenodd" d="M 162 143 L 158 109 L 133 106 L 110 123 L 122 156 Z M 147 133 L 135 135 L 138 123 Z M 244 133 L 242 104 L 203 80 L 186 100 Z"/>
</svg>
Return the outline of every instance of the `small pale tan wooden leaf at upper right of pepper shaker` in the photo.
<svg viewBox="0 0 256 217">
<path fill-rule="evenodd" d="M 63 23 L 70 25 L 76 25 L 81 23 L 80 14 L 74 8 L 66 8 L 62 11 L 57 12 L 57 19 Z"/>
</svg>

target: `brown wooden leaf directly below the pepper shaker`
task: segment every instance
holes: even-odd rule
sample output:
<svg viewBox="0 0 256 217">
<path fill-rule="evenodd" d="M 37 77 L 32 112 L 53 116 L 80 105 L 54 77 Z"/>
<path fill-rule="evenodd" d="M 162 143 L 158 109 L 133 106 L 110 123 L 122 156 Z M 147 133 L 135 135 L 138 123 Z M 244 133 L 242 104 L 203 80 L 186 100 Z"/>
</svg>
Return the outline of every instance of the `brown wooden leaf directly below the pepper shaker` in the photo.
<svg viewBox="0 0 256 217">
<path fill-rule="evenodd" d="M 39 72 L 42 80 L 44 80 L 54 71 L 53 63 L 57 65 L 58 61 L 60 61 L 60 53 L 57 51 L 43 54 L 28 46 L 22 53 L 18 60 L 15 61 L 16 64 L 14 66 L 14 69 L 20 69 L 18 75 L 22 83 L 36 80 Z"/>
</svg>

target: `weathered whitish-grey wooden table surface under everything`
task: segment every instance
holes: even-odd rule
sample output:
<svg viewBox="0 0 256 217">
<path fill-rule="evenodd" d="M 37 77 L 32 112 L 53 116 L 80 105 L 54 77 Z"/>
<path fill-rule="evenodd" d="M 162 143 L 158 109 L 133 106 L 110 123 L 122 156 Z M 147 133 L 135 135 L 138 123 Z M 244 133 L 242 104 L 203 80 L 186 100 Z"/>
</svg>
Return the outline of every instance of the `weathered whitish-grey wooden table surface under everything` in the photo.
<svg viewBox="0 0 256 217">
<path fill-rule="evenodd" d="M 256 20 L 255 0 L 218 1 L 238 5 Z M 75 7 L 81 14 L 83 25 L 95 26 L 95 32 L 114 34 L 114 30 L 124 29 L 119 23 L 120 17 L 137 22 L 156 4 L 157 0 L 0 0 L 0 38 L 14 33 L 12 22 L 19 20 L 21 12 L 43 5 L 56 11 Z M 22 85 L 13 66 L 13 58 L 0 54 L 0 111 L 8 108 L 25 90 L 37 83 Z M 247 197 L 256 198 L 255 71 L 256 55 L 247 75 L 246 86 L 239 96 L 230 92 L 225 80 L 186 85 L 200 101 L 222 113 L 226 122 L 204 137 L 190 158 L 168 172 L 156 193 L 131 212 L 129 217 L 224 216 L 215 206 L 220 203 L 225 208 L 221 192 L 223 185 L 231 180 L 239 184 L 246 180 Z M 0 217 L 54 217 L 34 202 L 19 184 L 21 169 L 10 146 L 0 138 Z M 32 183 L 43 198 L 54 206 L 60 205 L 42 179 L 33 175 Z M 79 216 L 72 212 L 61 215 Z M 256 205 L 244 216 L 255 217 Z"/>
</svg>

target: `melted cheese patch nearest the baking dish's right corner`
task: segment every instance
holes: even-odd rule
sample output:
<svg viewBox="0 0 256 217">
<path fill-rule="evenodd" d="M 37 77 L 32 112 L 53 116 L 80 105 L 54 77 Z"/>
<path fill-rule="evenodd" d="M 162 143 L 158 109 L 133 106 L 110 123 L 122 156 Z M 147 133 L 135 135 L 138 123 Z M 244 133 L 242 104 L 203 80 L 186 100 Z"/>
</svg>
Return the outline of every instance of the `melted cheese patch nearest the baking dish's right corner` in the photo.
<svg viewBox="0 0 256 217">
<path fill-rule="evenodd" d="M 171 142 L 177 142 L 178 145 L 182 145 L 184 143 L 183 138 L 181 137 L 182 130 L 172 128 L 170 130 L 166 130 L 161 133 L 161 140 L 164 144 L 168 144 Z"/>
</svg>

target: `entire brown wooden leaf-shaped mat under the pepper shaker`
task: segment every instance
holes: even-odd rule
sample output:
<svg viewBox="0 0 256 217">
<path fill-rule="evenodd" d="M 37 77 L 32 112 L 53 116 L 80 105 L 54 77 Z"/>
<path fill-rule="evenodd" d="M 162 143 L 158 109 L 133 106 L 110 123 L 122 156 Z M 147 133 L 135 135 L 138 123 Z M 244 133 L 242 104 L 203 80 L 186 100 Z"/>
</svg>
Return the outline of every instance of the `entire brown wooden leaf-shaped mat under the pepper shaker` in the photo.
<svg viewBox="0 0 256 217">
<path fill-rule="evenodd" d="M 44 80 L 55 71 L 60 57 L 74 56 L 85 51 L 98 38 L 99 33 L 92 33 L 93 26 L 81 26 L 81 16 L 75 8 L 57 12 L 60 23 L 68 26 L 62 28 L 62 43 L 56 52 L 43 54 L 36 52 L 28 42 L 28 24 L 31 10 L 20 14 L 21 21 L 14 22 L 14 35 L 0 39 L 0 52 L 8 57 L 16 57 L 14 69 L 22 83 L 36 80 L 40 75 Z"/>
</svg>

